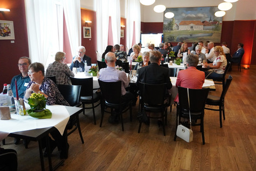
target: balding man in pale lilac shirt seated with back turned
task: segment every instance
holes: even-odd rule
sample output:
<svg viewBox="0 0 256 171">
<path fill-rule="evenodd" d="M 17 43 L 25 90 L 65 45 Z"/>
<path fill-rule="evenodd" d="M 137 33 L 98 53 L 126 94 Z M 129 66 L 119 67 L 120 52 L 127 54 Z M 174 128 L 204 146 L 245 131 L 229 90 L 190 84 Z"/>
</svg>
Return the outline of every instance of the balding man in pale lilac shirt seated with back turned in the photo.
<svg viewBox="0 0 256 171">
<path fill-rule="evenodd" d="M 115 68 L 115 54 L 112 52 L 108 52 L 105 55 L 105 62 L 107 63 L 107 68 L 101 68 L 100 69 L 100 76 L 99 80 L 105 81 L 105 82 L 116 82 L 121 81 L 121 101 L 126 102 L 134 99 L 134 95 L 130 92 L 126 91 L 126 87 L 129 85 L 128 77 L 126 76 L 126 73 L 118 70 Z M 116 115 L 117 112 L 111 113 L 111 116 L 108 119 L 109 123 L 117 123 L 119 120 L 119 116 Z"/>
</svg>

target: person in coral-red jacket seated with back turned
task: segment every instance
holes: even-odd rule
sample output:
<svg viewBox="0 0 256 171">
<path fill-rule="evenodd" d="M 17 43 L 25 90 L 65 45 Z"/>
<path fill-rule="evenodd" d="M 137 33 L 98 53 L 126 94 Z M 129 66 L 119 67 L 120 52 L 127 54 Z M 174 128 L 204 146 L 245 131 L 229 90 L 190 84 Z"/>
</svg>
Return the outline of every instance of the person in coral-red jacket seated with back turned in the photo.
<svg viewBox="0 0 256 171">
<path fill-rule="evenodd" d="M 188 56 L 186 56 L 186 66 L 188 66 L 188 69 L 179 71 L 176 81 L 176 87 L 180 86 L 190 89 L 202 89 L 205 74 L 204 72 L 196 69 L 198 61 L 199 60 L 196 55 L 189 54 Z M 174 101 L 178 102 L 178 95 L 176 96 Z"/>
</svg>

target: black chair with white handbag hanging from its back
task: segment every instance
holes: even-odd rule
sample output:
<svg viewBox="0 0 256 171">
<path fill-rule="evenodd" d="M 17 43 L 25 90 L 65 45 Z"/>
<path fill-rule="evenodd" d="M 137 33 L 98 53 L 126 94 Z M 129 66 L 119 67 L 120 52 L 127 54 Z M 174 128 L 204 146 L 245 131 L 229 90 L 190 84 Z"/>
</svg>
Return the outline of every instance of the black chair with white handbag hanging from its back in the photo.
<svg viewBox="0 0 256 171">
<path fill-rule="evenodd" d="M 176 131 L 177 126 L 181 122 L 181 118 L 189 119 L 189 110 L 191 120 L 200 119 L 199 124 L 192 124 L 192 126 L 200 125 L 200 132 L 202 133 L 203 144 L 204 141 L 204 109 L 209 89 L 189 89 L 189 101 L 188 102 L 188 90 L 184 87 L 178 87 L 179 103 L 177 104 L 177 117 L 176 117 Z M 178 123 L 179 121 L 179 123 Z M 177 135 L 175 131 L 174 141 L 176 141 Z"/>
</svg>

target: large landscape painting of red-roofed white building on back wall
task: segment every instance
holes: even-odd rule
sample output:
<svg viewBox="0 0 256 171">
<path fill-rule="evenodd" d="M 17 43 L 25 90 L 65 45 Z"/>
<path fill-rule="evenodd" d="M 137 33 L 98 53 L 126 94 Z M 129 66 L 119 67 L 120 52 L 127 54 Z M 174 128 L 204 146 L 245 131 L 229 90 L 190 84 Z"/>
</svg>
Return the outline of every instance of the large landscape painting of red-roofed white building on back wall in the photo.
<svg viewBox="0 0 256 171">
<path fill-rule="evenodd" d="M 167 8 L 174 13 L 173 18 L 163 19 L 163 37 L 167 42 L 220 42 L 222 35 L 222 17 L 214 14 L 217 6 L 196 8 Z"/>
</svg>

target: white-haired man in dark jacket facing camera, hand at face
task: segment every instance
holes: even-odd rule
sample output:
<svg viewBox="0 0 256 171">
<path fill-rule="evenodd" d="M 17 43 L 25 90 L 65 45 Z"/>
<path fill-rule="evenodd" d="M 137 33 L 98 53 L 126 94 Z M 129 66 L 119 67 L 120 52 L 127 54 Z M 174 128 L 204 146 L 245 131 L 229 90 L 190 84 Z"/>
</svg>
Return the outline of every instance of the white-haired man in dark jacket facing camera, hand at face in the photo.
<svg viewBox="0 0 256 171">
<path fill-rule="evenodd" d="M 71 62 L 70 69 L 73 70 L 73 67 L 75 68 L 82 68 L 82 72 L 85 71 L 85 61 L 87 63 L 87 66 L 91 66 L 91 58 L 89 56 L 85 55 L 85 47 L 79 46 L 78 47 L 78 55 L 73 57 L 73 61 Z"/>
</svg>

